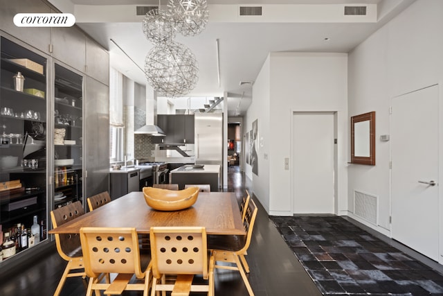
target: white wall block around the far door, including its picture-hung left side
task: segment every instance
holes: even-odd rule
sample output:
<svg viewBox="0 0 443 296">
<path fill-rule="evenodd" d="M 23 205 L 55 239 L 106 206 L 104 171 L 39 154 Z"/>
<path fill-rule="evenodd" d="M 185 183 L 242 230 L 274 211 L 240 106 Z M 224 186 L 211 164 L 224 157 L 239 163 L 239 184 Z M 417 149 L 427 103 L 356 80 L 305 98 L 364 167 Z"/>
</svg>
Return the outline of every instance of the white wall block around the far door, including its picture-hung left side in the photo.
<svg viewBox="0 0 443 296">
<path fill-rule="evenodd" d="M 250 130 L 258 118 L 259 166 L 257 176 L 251 173 L 251 166 L 246 165 L 246 175 L 252 177 L 253 191 L 271 215 L 292 215 L 291 168 L 284 171 L 284 158 L 291 159 L 291 119 L 296 111 L 336 112 L 336 214 L 346 213 L 346 54 L 271 53 L 254 82 L 253 103 L 245 126 Z"/>
</svg>

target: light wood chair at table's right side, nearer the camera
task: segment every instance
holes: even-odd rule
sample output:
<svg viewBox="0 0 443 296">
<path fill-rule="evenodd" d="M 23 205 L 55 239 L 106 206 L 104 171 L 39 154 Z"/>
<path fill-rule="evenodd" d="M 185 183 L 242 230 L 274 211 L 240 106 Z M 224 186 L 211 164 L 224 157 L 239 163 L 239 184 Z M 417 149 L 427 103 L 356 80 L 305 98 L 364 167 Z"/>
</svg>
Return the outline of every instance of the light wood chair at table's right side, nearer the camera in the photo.
<svg viewBox="0 0 443 296">
<path fill-rule="evenodd" d="M 248 202 L 248 207 L 246 209 L 246 216 L 244 218 L 244 228 L 246 230 L 246 238 L 244 240 L 238 239 L 236 236 L 230 241 L 226 241 L 226 245 L 219 249 L 211 250 L 211 254 L 215 260 L 215 268 L 228 269 L 228 270 L 238 270 L 249 295 L 253 296 L 253 290 L 251 284 L 249 284 L 246 273 L 249 272 L 248 264 L 244 255 L 248 250 L 251 243 L 252 231 L 255 223 L 255 218 L 257 216 L 257 206 L 255 202 L 251 199 Z M 224 265 L 217 265 L 217 261 L 229 263 Z M 242 265 L 243 264 L 243 265 Z"/>
</svg>

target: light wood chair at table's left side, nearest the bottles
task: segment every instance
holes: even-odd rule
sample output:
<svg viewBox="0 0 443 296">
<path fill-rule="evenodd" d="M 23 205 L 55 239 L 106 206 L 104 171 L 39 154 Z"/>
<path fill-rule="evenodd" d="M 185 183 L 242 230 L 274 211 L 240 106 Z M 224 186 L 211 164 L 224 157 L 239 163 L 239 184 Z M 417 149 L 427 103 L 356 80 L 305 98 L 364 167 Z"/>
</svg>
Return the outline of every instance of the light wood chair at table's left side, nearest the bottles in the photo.
<svg viewBox="0 0 443 296">
<path fill-rule="evenodd" d="M 80 201 L 73 202 L 64 207 L 51 211 L 53 228 L 59 227 L 84 214 L 83 205 Z M 84 272 L 82 246 L 78 234 L 54 234 L 55 245 L 60 256 L 68 261 L 62 278 L 59 281 L 54 296 L 60 295 L 64 283 L 68 277 L 86 277 Z"/>
</svg>

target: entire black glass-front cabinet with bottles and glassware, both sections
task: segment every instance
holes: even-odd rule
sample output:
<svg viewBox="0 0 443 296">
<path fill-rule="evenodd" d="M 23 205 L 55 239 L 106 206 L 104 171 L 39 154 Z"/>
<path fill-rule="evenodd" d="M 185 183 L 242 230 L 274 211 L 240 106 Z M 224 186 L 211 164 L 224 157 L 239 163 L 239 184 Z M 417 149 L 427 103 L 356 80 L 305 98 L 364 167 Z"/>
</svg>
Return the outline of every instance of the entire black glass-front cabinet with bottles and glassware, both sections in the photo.
<svg viewBox="0 0 443 296">
<path fill-rule="evenodd" d="M 84 204 L 84 76 L 0 38 L 1 266 L 48 243 L 49 211 Z"/>
</svg>

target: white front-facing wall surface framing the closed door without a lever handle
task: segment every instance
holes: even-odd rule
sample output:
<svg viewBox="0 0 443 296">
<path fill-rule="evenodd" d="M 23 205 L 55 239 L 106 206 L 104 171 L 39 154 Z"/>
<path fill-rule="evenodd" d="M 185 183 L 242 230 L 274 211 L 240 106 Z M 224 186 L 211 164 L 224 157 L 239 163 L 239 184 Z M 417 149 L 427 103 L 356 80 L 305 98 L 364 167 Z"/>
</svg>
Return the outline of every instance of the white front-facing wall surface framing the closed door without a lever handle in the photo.
<svg viewBox="0 0 443 296">
<path fill-rule="evenodd" d="M 293 112 L 337 112 L 338 212 L 346 201 L 347 55 L 344 53 L 271 53 L 271 143 L 269 214 L 292 215 L 291 164 Z"/>
</svg>

